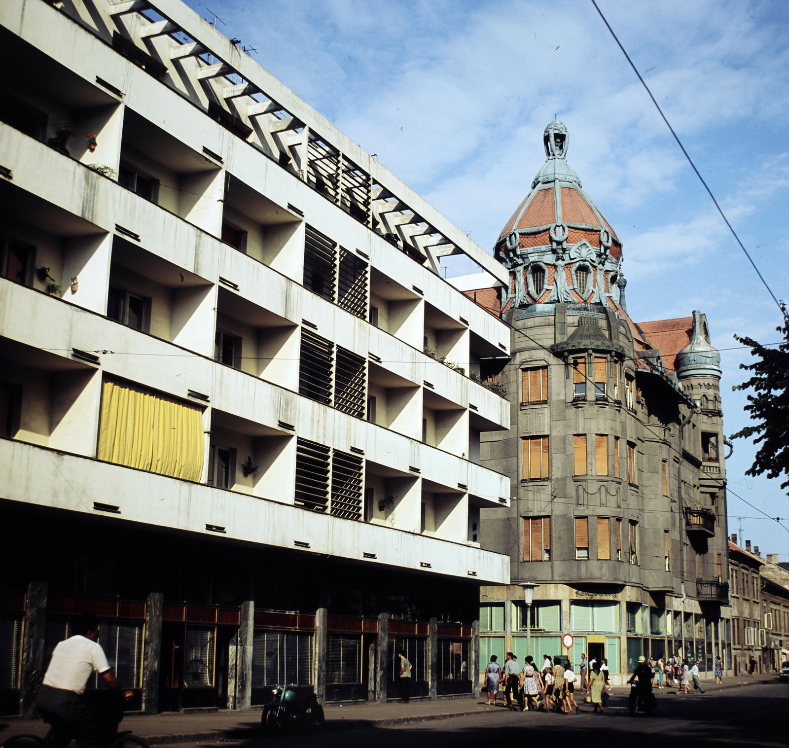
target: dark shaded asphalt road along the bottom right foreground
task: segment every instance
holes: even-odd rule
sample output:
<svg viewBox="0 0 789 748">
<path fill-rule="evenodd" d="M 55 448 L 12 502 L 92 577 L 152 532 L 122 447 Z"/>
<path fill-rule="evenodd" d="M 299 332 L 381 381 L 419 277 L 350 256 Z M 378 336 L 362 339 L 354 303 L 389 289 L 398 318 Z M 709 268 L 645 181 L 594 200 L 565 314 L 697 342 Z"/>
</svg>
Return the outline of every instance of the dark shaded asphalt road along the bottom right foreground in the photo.
<svg viewBox="0 0 789 748">
<path fill-rule="evenodd" d="M 505 712 L 455 717 L 398 727 L 294 733 L 267 738 L 180 743 L 175 748 L 749 748 L 789 746 L 789 685 L 769 684 L 718 693 L 675 696 L 657 692 L 653 716 L 631 716 L 626 698 L 614 696 L 605 714 L 582 706 L 580 715 Z M 161 746 L 157 746 L 161 748 Z"/>
</svg>

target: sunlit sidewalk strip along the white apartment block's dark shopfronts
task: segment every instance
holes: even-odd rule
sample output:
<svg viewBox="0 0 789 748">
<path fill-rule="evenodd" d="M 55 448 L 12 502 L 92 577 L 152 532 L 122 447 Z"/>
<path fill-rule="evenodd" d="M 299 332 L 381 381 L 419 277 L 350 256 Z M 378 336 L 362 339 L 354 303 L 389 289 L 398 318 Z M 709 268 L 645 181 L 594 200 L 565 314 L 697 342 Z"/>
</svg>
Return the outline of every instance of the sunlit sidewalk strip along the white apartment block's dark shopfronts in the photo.
<svg viewBox="0 0 789 748">
<path fill-rule="evenodd" d="M 503 694 L 502 694 L 503 696 Z M 501 701 L 500 703 L 503 703 Z M 447 720 L 469 714 L 505 712 L 474 698 L 447 701 L 411 701 L 410 704 L 359 702 L 325 707 L 327 731 L 391 727 L 394 724 Z M 198 740 L 244 739 L 260 734 L 260 709 L 250 712 L 222 710 L 208 714 L 163 712 L 155 716 L 129 715 L 119 730 L 131 730 L 151 746 Z M 47 734 L 42 720 L 9 720 L 0 723 L 0 742 L 23 733 Z"/>
</svg>

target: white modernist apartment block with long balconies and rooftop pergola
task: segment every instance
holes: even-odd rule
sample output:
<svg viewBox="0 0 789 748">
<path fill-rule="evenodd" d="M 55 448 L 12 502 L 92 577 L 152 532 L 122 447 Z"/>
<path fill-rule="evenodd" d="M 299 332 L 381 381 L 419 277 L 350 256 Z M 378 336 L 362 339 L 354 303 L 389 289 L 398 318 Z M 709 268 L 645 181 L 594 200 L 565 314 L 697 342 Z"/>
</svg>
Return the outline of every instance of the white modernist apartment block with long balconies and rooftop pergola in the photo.
<svg viewBox="0 0 789 748">
<path fill-rule="evenodd" d="M 0 26 L 0 713 L 81 611 L 149 713 L 472 693 L 506 269 L 177 0 Z"/>
</svg>

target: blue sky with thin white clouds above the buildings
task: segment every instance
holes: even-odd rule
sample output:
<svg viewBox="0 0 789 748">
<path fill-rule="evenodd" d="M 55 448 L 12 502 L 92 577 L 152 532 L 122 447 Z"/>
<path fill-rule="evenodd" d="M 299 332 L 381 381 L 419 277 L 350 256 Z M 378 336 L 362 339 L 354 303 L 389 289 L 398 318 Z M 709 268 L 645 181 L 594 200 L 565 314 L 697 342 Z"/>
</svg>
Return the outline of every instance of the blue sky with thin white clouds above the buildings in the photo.
<svg viewBox="0 0 789 748">
<path fill-rule="evenodd" d="M 623 241 L 630 316 L 701 309 L 719 349 L 776 342 L 780 313 L 591 2 L 187 0 L 219 31 L 491 251 L 567 125 L 567 159 Z M 208 2 L 208 0 L 206 0 Z M 600 8 L 776 297 L 789 301 L 789 4 L 613 2 Z M 443 273 L 474 268 L 446 258 Z M 723 350 L 727 434 L 749 423 L 748 350 Z M 789 561 L 780 480 L 727 461 L 729 532 Z M 742 518 L 742 519 L 739 519 Z M 789 521 L 783 522 L 789 528 Z"/>
</svg>

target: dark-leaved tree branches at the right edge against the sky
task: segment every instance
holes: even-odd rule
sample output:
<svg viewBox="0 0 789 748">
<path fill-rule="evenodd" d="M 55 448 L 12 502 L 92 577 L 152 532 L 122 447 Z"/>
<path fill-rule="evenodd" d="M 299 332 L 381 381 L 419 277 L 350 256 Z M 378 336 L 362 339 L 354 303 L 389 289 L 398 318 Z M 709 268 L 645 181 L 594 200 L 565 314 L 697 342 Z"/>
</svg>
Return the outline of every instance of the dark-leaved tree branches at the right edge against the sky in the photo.
<svg viewBox="0 0 789 748">
<path fill-rule="evenodd" d="M 757 424 L 746 426 L 731 439 L 753 439 L 754 444 L 761 445 L 756 453 L 753 465 L 745 471 L 746 475 L 757 476 L 767 473 L 768 478 L 787 477 L 781 488 L 789 487 L 789 318 L 786 305 L 783 310 L 783 327 L 776 330 L 783 334 L 783 341 L 777 348 L 765 348 L 752 338 L 735 340 L 750 347 L 750 354 L 757 357 L 753 364 L 740 364 L 740 368 L 753 372 L 750 380 L 736 384 L 733 390 L 753 390 L 755 395 L 747 395 L 748 405 L 745 410 L 750 412 L 752 421 Z M 787 492 L 789 493 L 789 492 Z"/>
</svg>

